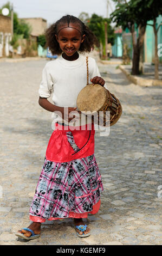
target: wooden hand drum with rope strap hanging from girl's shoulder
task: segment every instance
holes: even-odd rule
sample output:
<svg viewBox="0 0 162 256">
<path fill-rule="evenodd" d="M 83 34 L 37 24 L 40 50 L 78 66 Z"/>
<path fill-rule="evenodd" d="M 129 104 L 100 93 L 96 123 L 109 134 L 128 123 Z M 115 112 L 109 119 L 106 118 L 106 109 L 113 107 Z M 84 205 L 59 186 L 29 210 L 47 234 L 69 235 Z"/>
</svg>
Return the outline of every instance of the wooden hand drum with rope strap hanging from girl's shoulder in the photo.
<svg viewBox="0 0 162 256">
<path fill-rule="evenodd" d="M 109 121 L 110 126 L 114 125 L 120 118 L 122 107 L 120 101 L 109 90 L 100 84 L 89 84 L 88 57 L 87 61 L 87 86 L 85 86 L 77 96 L 77 108 L 87 116 L 89 114 L 103 111 L 103 126 Z M 110 112 L 109 120 L 106 118 L 106 111 Z M 98 118 L 100 125 L 100 119 Z"/>
</svg>

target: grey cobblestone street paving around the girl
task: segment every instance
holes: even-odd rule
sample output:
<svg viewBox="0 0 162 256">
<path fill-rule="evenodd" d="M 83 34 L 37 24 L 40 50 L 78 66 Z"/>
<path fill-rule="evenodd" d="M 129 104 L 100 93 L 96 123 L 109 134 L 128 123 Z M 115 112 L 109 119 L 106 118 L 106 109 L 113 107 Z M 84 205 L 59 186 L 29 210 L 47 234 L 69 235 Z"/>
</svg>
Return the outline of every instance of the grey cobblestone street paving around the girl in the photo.
<svg viewBox="0 0 162 256">
<path fill-rule="evenodd" d="M 30 223 L 29 207 L 52 132 L 51 113 L 38 105 L 46 62 L 0 63 L 1 245 L 161 245 L 161 89 L 135 86 L 115 65 L 100 63 L 123 112 L 109 136 L 95 135 L 104 191 L 100 211 L 87 219 L 92 235 L 77 237 L 72 219 L 47 221 L 36 240 L 18 241 L 14 235 Z"/>
</svg>

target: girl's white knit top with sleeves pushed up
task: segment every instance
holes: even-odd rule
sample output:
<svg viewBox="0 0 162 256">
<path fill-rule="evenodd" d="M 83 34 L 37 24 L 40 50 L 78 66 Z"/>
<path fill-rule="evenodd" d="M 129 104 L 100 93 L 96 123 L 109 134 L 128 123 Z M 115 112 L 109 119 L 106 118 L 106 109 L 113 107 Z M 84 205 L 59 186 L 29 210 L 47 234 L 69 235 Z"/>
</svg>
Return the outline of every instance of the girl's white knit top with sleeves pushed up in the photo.
<svg viewBox="0 0 162 256">
<path fill-rule="evenodd" d="M 89 83 L 95 76 L 101 76 L 95 59 L 88 57 Z M 42 81 L 38 93 L 40 97 L 50 97 L 54 105 L 59 107 L 77 107 L 77 95 L 87 85 L 86 56 L 79 54 L 73 61 L 62 56 L 48 62 L 42 72 Z M 54 114 L 54 121 L 61 122 L 62 118 Z M 64 121 L 64 123 L 66 123 Z M 82 123 L 83 125 L 83 123 Z"/>
</svg>

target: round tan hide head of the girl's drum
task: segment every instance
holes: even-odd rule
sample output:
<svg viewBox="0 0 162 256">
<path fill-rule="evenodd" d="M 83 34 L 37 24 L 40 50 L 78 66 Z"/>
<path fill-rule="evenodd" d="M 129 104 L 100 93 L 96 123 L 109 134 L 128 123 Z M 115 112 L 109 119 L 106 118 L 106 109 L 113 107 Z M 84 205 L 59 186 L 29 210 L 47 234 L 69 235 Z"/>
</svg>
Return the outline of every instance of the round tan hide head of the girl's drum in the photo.
<svg viewBox="0 0 162 256">
<path fill-rule="evenodd" d="M 105 88 L 99 84 L 88 84 L 77 96 L 77 108 L 81 112 L 95 113 L 99 111 L 106 101 Z"/>
</svg>

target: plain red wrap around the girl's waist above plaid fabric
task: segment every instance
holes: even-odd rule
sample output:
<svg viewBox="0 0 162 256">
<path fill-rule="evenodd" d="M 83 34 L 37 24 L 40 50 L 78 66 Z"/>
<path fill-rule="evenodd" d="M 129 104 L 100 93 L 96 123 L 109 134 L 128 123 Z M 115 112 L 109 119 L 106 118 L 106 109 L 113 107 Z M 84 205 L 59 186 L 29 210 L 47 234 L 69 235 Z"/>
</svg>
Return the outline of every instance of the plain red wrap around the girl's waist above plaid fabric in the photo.
<svg viewBox="0 0 162 256">
<path fill-rule="evenodd" d="M 86 124 L 77 126 L 80 130 L 72 129 L 74 129 L 73 126 L 55 124 L 55 130 L 48 142 L 46 159 L 53 162 L 69 162 L 94 154 L 94 125 Z M 67 132 L 69 131 L 72 132 L 78 151 L 74 151 L 68 142 Z"/>
</svg>

